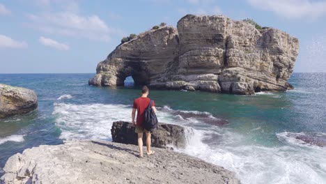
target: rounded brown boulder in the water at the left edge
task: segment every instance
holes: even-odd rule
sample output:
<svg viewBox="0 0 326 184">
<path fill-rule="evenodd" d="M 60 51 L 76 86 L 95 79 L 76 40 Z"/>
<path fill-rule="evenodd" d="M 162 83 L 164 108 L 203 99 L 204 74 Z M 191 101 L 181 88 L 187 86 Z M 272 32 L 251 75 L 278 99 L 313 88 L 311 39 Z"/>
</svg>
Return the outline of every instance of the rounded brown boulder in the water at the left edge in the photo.
<svg viewBox="0 0 326 184">
<path fill-rule="evenodd" d="M 24 114 L 37 107 L 38 98 L 33 90 L 0 84 L 0 118 Z"/>
</svg>

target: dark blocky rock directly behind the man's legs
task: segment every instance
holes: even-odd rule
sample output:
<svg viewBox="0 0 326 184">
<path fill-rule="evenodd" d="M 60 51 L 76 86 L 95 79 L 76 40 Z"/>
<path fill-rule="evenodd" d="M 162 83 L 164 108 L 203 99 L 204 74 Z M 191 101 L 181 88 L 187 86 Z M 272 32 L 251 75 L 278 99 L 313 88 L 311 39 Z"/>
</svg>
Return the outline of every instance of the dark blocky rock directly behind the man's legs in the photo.
<svg viewBox="0 0 326 184">
<path fill-rule="evenodd" d="M 126 121 L 116 121 L 111 129 L 112 141 L 123 144 L 137 143 L 137 134 L 134 132 L 132 123 Z M 151 146 L 157 148 L 167 148 L 169 145 L 183 148 L 185 147 L 185 128 L 178 125 L 159 123 L 157 130 L 151 135 Z M 145 134 L 143 145 L 146 145 Z"/>
</svg>

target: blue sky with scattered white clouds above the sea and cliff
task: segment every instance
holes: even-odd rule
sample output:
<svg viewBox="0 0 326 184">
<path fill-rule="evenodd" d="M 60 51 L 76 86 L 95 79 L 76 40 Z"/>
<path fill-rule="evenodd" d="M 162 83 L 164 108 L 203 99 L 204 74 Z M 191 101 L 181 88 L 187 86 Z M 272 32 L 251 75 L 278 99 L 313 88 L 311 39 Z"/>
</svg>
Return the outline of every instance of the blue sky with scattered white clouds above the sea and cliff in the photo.
<svg viewBox="0 0 326 184">
<path fill-rule="evenodd" d="M 326 0 L 0 0 L 0 73 L 95 72 L 123 36 L 188 13 L 286 31 L 300 40 L 295 72 L 326 72 Z"/>
</svg>

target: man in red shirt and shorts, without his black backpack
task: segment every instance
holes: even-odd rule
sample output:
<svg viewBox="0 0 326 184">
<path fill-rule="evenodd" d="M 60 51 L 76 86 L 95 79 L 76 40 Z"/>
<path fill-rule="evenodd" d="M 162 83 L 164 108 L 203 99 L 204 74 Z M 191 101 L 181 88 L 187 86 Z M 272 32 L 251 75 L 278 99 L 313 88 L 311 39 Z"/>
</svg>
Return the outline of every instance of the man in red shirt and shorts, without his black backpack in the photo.
<svg viewBox="0 0 326 184">
<path fill-rule="evenodd" d="M 144 112 L 145 109 L 148 107 L 150 103 L 150 99 L 147 98 L 149 93 L 149 89 L 147 86 L 143 86 L 141 89 L 141 97 L 136 98 L 134 100 L 134 105 L 132 107 L 132 125 L 136 128 L 134 132 L 138 135 L 138 146 L 139 146 L 139 157 L 143 158 L 143 131 L 145 130 L 146 133 L 146 148 L 147 148 L 147 155 L 153 155 L 155 151 L 150 150 L 150 131 L 147 131 L 142 127 L 143 121 L 145 120 Z M 152 102 L 152 108 L 156 114 L 156 108 L 154 100 Z M 137 111 L 137 120 L 134 121 L 134 117 Z"/>
</svg>

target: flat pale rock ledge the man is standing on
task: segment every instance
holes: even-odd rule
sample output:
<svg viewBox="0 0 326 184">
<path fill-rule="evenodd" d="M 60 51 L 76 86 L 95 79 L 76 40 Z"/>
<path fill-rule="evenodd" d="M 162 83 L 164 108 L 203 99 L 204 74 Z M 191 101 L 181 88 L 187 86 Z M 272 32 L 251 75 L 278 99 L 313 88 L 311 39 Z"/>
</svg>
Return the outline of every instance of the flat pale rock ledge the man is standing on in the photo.
<svg viewBox="0 0 326 184">
<path fill-rule="evenodd" d="M 143 148 L 145 150 L 145 148 Z M 11 156 L 0 183 L 240 183 L 231 171 L 162 148 L 138 158 L 138 147 L 67 141 Z"/>
</svg>

